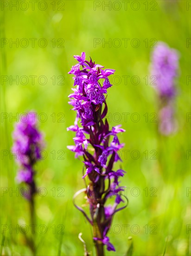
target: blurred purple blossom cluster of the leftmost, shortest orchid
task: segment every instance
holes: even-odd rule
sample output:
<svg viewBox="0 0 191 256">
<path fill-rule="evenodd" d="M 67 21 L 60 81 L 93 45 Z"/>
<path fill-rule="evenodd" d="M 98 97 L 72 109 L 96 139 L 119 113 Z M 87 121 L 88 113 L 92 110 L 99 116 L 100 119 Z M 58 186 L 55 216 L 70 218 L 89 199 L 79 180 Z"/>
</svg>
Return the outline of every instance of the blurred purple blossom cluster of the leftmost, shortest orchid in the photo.
<svg viewBox="0 0 191 256">
<path fill-rule="evenodd" d="M 36 113 L 29 112 L 26 117 L 26 121 L 19 121 L 15 125 L 13 153 L 16 155 L 16 161 L 20 167 L 17 180 L 25 182 L 34 190 L 35 171 L 33 166 L 41 158 L 40 151 L 44 142 L 42 134 L 37 128 Z"/>
</svg>

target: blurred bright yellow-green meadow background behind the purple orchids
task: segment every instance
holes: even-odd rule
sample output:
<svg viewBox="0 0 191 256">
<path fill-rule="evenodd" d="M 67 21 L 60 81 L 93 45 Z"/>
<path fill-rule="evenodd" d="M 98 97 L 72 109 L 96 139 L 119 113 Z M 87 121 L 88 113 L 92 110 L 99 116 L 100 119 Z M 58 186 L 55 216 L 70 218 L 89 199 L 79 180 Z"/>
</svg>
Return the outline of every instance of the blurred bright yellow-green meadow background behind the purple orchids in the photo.
<svg viewBox="0 0 191 256">
<path fill-rule="evenodd" d="M 46 141 L 45 159 L 35 167 L 38 187 L 47 193 L 42 196 L 41 190 L 36 196 L 37 225 L 47 227 L 45 234 L 41 234 L 43 228 L 36 232 L 37 255 L 83 255 L 80 232 L 95 254 L 91 227 L 72 203 L 74 193 L 84 187 L 83 164 L 66 148 L 74 136 L 66 128 L 76 114 L 68 104 L 73 80 L 67 73 L 76 64 L 73 55 L 84 51 L 96 63 L 116 70 L 114 86 L 108 90 L 108 121 L 126 129 L 120 141 L 129 150 L 121 151 L 127 171 L 121 185 L 127 187 L 129 204 L 115 215 L 109 235 L 116 253 L 106 255 L 125 255 L 129 236 L 135 256 L 163 255 L 165 246 L 165 255 L 190 255 L 190 1 L 30 2 L 1 1 L 0 174 L 1 189 L 7 188 L 1 190 L 5 192 L 1 193 L 1 253 L 32 255 L 25 235 L 11 230 L 29 223 L 29 206 L 20 193 L 12 193 L 24 185 L 15 180 L 18 166 L 10 150 L 14 123 L 20 114 L 33 110 Z M 175 102 L 178 130 L 167 137 L 158 132 L 158 96 L 149 71 L 158 41 L 180 54 Z M 124 76 L 129 76 L 127 81 Z M 139 121 L 134 121 L 134 113 Z M 2 225 L 7 225 L 6 231 Z"/>
</svg>

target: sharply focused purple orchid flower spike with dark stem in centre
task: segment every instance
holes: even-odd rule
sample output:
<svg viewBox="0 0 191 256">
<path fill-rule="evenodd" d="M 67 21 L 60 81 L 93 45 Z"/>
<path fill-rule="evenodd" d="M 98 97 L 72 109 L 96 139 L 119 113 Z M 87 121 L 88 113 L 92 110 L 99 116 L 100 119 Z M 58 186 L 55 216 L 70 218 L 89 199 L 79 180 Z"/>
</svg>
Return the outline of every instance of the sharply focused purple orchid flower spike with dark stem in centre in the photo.
<svg viewBox="0 0 191 256">
<path fill-rule="evenodd" d="M 118 134 L 125 130 L 120 125 L 109 129 L 105 119 L 108 108 L 106 94 L 112 86 L 108 77 L 114 74 L 114 69 L 104 69 L 103 66 L 85 60 L 85 53 L 75 55 L 78 63 L 69 74 L 74 74 L 73 93 L 69 95 L 70 104 L 76 111 L 74 125 L 68 130 L 76 132 L 74 146 L 68 148 L 75 152 L 76 157 L 82 155 L 85 166 L 83 178 L 89 178 L 86 189 L 89 202 L 90 217 L 84 216 L 94 226 L 94 241 L 98 255 L 103 255 L 102 246 L 115 250 L 107 236 L 114 214 L 120 209 L 117 206 L 123 202 L 119 186 L 119 178 L 124 170 L 114 170 L 114 163 L 121 161 L 118 151 L 124 146 L 118 139 Z M 79 125 L 79 122 L 81 125 Z M 107 205 L 108 198 L 114 198 L 113 205 Z M 79 209 L 79 208 L 78 208 Z"/>
</svg>

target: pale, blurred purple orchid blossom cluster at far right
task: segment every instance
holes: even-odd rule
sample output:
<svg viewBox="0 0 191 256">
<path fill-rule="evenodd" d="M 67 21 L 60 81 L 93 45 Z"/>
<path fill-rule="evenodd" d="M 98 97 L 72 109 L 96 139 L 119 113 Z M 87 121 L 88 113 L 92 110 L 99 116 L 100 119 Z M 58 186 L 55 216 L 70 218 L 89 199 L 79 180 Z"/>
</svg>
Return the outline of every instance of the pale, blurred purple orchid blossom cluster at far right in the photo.
<svg viewBox="0 0 191 256">
<path fill-rule="evenodd" d="M 152 75 L 156 77 L 156 90 L 159 94 L 159 131 L 170 135 L 176 130 L 174 119 L 174 99 L 178 76 L 179 55 L 175 49 L 160 42 L 152 55 Z"/>
</svg>

